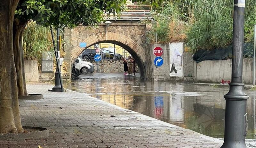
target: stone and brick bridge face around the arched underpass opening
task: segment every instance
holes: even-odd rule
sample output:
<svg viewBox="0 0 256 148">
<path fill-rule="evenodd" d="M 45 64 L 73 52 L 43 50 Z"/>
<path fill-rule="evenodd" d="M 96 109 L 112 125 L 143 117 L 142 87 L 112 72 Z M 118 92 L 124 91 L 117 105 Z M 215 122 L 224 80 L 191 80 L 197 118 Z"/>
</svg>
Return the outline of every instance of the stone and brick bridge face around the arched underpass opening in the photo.
<svg viewBox="0 0 256 148">
<path fill-rule="evenodd" d="M 64 60 L 71 65 L 87 47 L 103 42 L 113 43 L 122 46 L 138 61 L 140 76 L 146 77 L 146 30 L 146 25 L 139 23 L 112 23 L 107 27 L 101 24 L 91 28 L 78 26 L 65 30 L 65 39 L 70 44 L 65 48 L 67 54 Z M 81 42 L 86 43 L 87 47 L 79 47 Z M 68 68 L 70 70 L 71 66 Z"/>
</svg>

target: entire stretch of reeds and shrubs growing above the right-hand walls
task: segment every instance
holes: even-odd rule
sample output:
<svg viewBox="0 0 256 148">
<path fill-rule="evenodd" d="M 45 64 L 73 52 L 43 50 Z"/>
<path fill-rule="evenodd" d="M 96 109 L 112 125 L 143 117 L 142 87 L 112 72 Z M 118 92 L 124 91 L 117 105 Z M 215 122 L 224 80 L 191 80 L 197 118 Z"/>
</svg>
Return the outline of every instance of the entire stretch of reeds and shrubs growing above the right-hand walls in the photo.
<svg viewBox="0 0 256 148">
<path fill-rule="evenodd" d="M 159 1 L 154 1 L 159 2 Z M 189 51 L 226 48 L 232 45 L 233 0 L 169 0 L 156 5 L 152 19 L 144 21 L 151 26 L 148 43 L 185 42 Z M 137 4 L 151 3 L 150 0 Z M 253 41 L 256 24 L 256 3 L 246 1 L 244 42 Z"/>
</svg>

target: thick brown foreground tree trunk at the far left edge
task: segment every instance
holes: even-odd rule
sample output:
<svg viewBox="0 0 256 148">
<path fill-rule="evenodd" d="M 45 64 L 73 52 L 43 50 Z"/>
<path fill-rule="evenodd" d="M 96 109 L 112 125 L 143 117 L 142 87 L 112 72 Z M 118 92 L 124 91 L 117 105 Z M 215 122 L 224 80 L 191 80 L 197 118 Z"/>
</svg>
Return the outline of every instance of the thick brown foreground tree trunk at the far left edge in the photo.
<svg viewBox="0 0 256 148">
<path fill-rule="evenodd" d="M 19 0 L 0 4 L 0 133 L 22 132 L 13 58 L 12 25 Z"/>
</svg>

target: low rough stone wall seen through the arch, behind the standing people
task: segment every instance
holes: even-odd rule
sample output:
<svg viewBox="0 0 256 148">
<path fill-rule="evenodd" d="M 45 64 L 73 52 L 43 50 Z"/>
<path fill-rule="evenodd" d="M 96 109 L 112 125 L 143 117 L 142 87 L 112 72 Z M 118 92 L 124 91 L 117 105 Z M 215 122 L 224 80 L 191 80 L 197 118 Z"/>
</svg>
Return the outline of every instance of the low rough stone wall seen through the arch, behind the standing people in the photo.
<svg viewBox="0 0 256 148">
<path fill-rule="evenodd" d="M 94 65 L 94 73 L 97 73 L 97 62 L 93 60 L 92 64 Z M 124 73 L 124 64 L 122 60 L 101 60 L 99 69 L 99 73 Z M 139 73 L 137 64 L 136 71 Z"/>
</svg>

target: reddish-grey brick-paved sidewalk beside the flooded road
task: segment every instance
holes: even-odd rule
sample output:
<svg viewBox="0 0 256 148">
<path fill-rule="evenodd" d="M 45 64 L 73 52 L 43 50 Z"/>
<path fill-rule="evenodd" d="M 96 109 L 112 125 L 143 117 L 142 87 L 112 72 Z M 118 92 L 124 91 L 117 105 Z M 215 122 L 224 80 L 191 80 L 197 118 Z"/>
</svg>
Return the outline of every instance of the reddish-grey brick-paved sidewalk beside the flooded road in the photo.
<svg viewBox="0 0 256 148">
<path fill-rule="evenodd" d="M 222 141 L 74 92 L 28 84 L 43 100 L 20 100 L 23 126 L 50 129 L 47 138 L 4 141 L 0 148 L 219 148 Z M 62 109 L 59 109 L 61 107 Z M 115 117 L 110 117 L 114 115 Z"/>
</svg>

